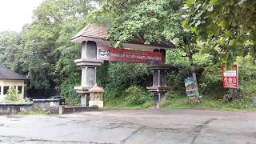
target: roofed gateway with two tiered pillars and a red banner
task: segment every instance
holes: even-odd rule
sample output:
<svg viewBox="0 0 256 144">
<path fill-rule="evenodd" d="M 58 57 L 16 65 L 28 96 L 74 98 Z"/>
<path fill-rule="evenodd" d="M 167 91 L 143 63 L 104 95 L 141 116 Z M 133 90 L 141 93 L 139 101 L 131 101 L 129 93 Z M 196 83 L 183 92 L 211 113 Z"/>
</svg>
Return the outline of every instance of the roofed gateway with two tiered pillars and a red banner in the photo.
<svg viewBox="0 0 256 144">
<path fill-rule="evenodd" d="M 166 50 L 174 50 L 170 42 L 145 45 L 143 39 L 136 34 L 132 42 L 123 43 L 123 49 L 110 47 L 106 40 L 108 29 L 106 26 L 87 25 L 72 38 L 72 42 L 82 44 L 82 58 L 74 62 L 82 69 L 81 86 L 74 89 L 82 94 L 82 106 L 90 106 L 89 90 L 97 86 L 96 70 L 104 61 L 147 63 L 148 69 L 153 71 L 153 86 L 147 87 L 154 94 L 154 108 L 159 108 L 166 102 L 166 72 L 170 65 L 166 65 Z M 102 101 L 102 99 L 101 99 Z"/>
</svg>

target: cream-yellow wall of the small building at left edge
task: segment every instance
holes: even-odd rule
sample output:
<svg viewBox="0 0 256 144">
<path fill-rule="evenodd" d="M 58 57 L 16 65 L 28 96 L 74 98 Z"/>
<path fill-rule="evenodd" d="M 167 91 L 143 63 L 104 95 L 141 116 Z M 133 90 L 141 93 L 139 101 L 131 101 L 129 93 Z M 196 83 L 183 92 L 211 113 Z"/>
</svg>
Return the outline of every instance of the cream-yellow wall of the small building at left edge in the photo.
<svg viewBox="0 0 256 144">
<path fill-rule="evenodd" d="M 25 82 L 24 80 L 0 80 L 0 88 L 1 88 L 1 93 L 0 93 L 0 102 L 4 101 L 4 98 L 6 97 L 6 94 L 4 94 L 4 86 L 16 86 L 16 90 L 18 91 L 18 86 L 22 86 L 22 93 L 18 94 L 19 98 L 24 98 L 24 86 Z"/>
</svg>

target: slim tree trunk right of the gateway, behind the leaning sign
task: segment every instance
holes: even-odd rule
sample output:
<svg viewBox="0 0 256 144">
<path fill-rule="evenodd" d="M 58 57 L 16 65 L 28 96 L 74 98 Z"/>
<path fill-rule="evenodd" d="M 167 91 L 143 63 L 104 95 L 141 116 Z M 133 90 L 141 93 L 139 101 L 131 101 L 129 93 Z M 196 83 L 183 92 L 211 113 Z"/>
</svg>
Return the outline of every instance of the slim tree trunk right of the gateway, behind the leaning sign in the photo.
<svg viewBox="0 0 256 144">
<path fill-rule="evenodd" d="M 195 83 L 196 102 L 198 102 L 198 100 L 199 100 L 198 80 L 197 80 L 197 75 L 195 73 L 195 67 L 194 67 L 194 63 L 193 63 L 193 54 L 191 54 L 189 43 L 190 42 L 187 42 L 187 44 L 186 44 L 186 54 L 190 61 L 191 73 L 192 73 L 192 77 L 194 78 L 194 83 Z"/>
</svg>

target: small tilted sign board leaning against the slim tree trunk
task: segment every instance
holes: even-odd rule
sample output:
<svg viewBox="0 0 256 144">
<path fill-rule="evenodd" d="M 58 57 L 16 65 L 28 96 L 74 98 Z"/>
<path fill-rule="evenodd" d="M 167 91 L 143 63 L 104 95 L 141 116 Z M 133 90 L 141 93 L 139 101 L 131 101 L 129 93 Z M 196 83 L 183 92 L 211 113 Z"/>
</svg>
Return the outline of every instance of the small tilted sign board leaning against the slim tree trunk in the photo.
<svg viewBox="0 0 256 144">
<path fill-rule="evenodd" d="M 194 78 L 186 78 L 185 79 L 185 87 L 186 87 L 186 95 L 188 97 L 195 97 L 196 90 L 195 90 L 195 81 Z"/>
</svg>

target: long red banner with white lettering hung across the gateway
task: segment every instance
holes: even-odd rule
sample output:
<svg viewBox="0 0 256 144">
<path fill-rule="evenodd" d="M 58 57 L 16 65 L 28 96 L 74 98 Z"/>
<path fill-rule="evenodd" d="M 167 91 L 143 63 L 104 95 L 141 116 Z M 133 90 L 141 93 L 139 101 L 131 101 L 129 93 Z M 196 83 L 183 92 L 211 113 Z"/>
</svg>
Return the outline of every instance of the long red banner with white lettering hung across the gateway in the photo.
<svg viewBox="0 0 256 144">
<path fill-rule="evenodd" d="M 162 53 L 141 50 L 115 49 L 98 47 L 98 59 L 110 62 L 162 63 Z"/>
</svg>

